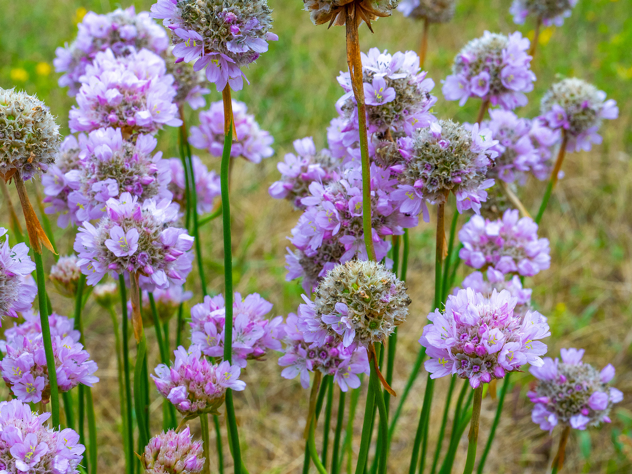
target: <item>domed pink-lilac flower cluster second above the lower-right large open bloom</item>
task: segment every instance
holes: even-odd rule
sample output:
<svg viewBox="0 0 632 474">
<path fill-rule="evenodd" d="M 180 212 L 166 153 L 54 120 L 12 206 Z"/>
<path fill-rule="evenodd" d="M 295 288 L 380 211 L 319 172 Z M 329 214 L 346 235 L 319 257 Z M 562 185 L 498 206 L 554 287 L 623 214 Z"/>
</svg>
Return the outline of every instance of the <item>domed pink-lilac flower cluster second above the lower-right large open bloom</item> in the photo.
<svg viewBox="0 0 632 474">
<path fill-rule="evenodd" d="M 472 216 L 459 240 L 459 257 L 475 269 L 534 276 L 550 267 L 549 239 L 538 238 L 538 224 L 531 217 L 519 219 L 516 209 L 507 209 L 497 221 Z"/>
</svg>

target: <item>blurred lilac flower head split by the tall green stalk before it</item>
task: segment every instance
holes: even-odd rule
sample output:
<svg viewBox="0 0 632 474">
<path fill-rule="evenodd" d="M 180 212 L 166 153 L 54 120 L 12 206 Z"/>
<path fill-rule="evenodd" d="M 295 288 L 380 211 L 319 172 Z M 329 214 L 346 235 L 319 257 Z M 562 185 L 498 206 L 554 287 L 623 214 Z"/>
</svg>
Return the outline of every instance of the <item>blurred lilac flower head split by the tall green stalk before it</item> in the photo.
<svg viewBox="0 0 632 474">
<path fill-rule="evenodd" d="M 255 116 L 248 114 L 243 102 L 233 100 L 234 131 L 237 141 L 233 142 L 231 157 L 243 157 L 253 163 L 274 155 L 274 138 L 261 130 Z M 209 110 L 200 112 L 200 125 L 192 126 L 189 143 L 200 150 L 209 150 L 212 156 L 221 156 L 224 150 L 224 104 L 213 102 Z"/>
</svg>

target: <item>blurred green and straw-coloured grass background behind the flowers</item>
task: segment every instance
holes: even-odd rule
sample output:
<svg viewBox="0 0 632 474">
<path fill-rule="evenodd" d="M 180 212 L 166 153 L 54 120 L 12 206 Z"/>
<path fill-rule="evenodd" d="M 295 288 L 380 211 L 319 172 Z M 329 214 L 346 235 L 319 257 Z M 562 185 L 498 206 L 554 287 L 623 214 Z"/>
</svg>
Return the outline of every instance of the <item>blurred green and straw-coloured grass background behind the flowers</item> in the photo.
<svg viewBox="0 0 632 474">
<path fill-rule="evenodd" d="M 149 0 L 137 1 L 137 10 L 149 9 Z M 334 102 L 342 94 L 336 82 L 346 69 L 343 28 L 313 27 L 300 0 L 269 0 L 274 8 L 279 42 L 246 71 L 251 85 L 236 94 L 256 114 L 263 128 L 276 139 L 276 155 L 260 165 L 239 162 L 233 175 L 233 240 L 236 288 L 241 293 L 257 291 L 274 303 L 274 315 L 296 310 L 300 284 L 284 280 L 286 236 L 298 214 L 287 202 L 273 200 L 267 187 L 277 179 L 276 162 L 291 150 L 296 138 L 312 135 L 317 145 L 325 145 L 325 128 L 334 116 Z M 97 13 L 118 4 L 101 1 L 0 0 L 0 86 L 25 88 L 37 93 L 59 116 L 64 133 L 68 109 L 73 99 L 57 86 L 58 75 L 51 70 L 54 49 L 71 41 L 82 9 Z M 130 4 L 125 1 L 123 6 Z M 452 23 L 432 27 L 427 69 L 435 80 L 439 97 L 437 116 L 473 121 L 478 103 L 465 107 L 447 103 L 441 94 L 441 79 L 449 73 L 454 54 L 484 30 L 504 33 L 516 30 L 508 13 L 509 0 L 462 0 Z M 546 342 L 552 356 L 559 348 L 586 349 L 585 360 L 604 366 L 614 363 L 616 386 L 626 398 L 614 410 L 612 425 L 600 430 L 575 432 L 569 442 L 565 472 L 629 473 L 632 471 L 632 0 L 580 0 L 573 15 L 560 28 L 547 28 L 538 45 L 533 70 L 538 76 L 530 103 L 518 114 L 537 114 L 539 99 L 550 83 L 564 76 L 578 76 L 595 83 L 617 100 L 619 119 L 609 121 L 602 130 L 604 143 L 590 153 L 568 155 L 562 179 L 540 234 L 551 242 L 550 270 L 526 281 L 533 288 L 533 303 L 549 317 L 553 336 Z M 533 25 L 520 29 L 528 35 Z M 396 13 L 375 23 L 375 34 L 361 28 L 363 51 L 380 47 L 391 52 L 416 49 L 420 25 Z M 221 100 L 212 92 L 211 100 Z M 195 114 L 190 114 L 194 124 Z M 176 130 L 161 133 L 160 146 L 166 157 L 176 155 Z M 209 167 L 219 169 L 219 159 L 202 153 Z M 544 184 L 529 181 L 521 198 L 529 209 L 537 209 Z M 0 224 L 8 223 L 6 206 L 0 205 Z M 448 216 L 449 218 L 449 216 Z M 465 221 L 465 218 L 462 219 Z M 399 331 L 394 389 L 401 391 L 418 349 L 416 340 L 425 325 L 433 284 L 434 227 L 421 224 L 411 231 L 409 288 L 413 298 L 411 315 Z M 61 248 L 70 252 L 73 231 L 56 230 Z M 205 269 L 209 289 L 222 291 L 221 224 L 212 222 L 204 231 Z M 52 258 L 49 258 L 50 264 Z M 464 274 L 461 274 L 463 276 Z M 195 286 L 195 270 L 189 288 Z M 71 303 L 53 296 L 53 308 L 68 315 Z M 194 298 L 197 302 L 198 296 Z M 99 364 L 101 382 L 95 389 L 99 435 L 99 472 L 119 473 L 124 466 L 118 432 L 118 391 L 116 359 L 109 317 L 90 301 L 87 310 L 87 349 Z M 11 322 L 5 321 L 4 325 Z M 150 344 L 152 341 L 150 341 Z M 173 345 L 173 342 L 172 342 Z M 152 344 L 154 347 L 155 344 Z M 157 363 L 157 350 L 152 355 Z M 253 474 L 296 473 L 303 462 L 302 438 L 308 392 L 296 380 L 284 380 L 276 355 L 266 362 L 250 363 L 245 392 L 236 396 L 240 436 L 245 462 Z M 408 471 L 410 446 L 423 399 L 425 373 L 420 375 L 396 432 L 389 473 Z M 530 420 L 531 404 L 525 397 L 533 377 L 514 377 L 513 391 L 487 463 L 489 474 L 544 473 L 555 452 L 554 437 L 542 432 Z M 460 384 L 461 382 L 459 382 Z M 431 438 L 436 436 L 442 411 L 442 392 L 447 380 L 437 383 L 431 418 Z M 5 390 L 6 392 L 6 390 Z M 161 400 L 152 390 L 154 432 L 161 426 Z M 363 412 L 360 397 L 358 413 Z M 334 404 L 334 407 L 336 404 Z M 481 439 L 494 416 L 495 401 L 483 400 Z M 335 408 L 334 408 L 335 411 Z M 356 417 L 355 442 L 359 444 L 362 416 Z M 197 427 L 195 427 L 197 428 Z M 319 427 L 320 428 L 320 427 Z M 455 472 L 465 461 L 466 441 L 461 440 Z M 465 443 L 465 444 L 464 444 Z M 479 443 L 480 445 L 483 442 Z M 319 441 L 317 440 L 317 445 Z M 434 450 L 434 442 L 430 441 Z M 357 449 L 357 446 L 356 446 Z M 226 450 L 228 454 L 228 450 Z M 214 459 L 215 460 L 215 459 Z"/>
</svg>

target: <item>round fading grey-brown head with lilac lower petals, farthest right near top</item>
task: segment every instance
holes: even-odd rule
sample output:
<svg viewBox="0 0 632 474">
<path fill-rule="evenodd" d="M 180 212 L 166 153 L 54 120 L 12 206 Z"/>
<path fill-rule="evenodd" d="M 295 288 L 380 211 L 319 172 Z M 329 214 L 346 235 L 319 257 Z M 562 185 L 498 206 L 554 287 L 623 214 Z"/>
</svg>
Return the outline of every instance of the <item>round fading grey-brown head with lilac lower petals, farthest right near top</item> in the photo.
<svg viewBox="0 0 632 474">
<path fill-rule="evenodd" d="M 552 85 L 542 97 L 540 119 L 553 130 L 564 130 L 566 150 L 590 150 L 599 144 L 597 133 L 604 119 L 616 119 L 619 107 L 614 99 L 605 100 L 605 92 L 576 77 Z"/>
</svg>

